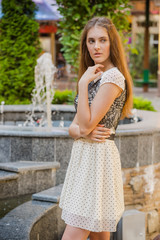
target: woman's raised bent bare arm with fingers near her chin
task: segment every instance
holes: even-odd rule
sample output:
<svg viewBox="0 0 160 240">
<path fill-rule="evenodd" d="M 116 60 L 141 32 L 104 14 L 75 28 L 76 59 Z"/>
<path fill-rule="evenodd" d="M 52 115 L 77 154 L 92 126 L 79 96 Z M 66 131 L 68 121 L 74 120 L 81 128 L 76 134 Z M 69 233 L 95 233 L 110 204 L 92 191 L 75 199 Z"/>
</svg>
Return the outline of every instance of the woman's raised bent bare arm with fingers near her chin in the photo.
<svg viewBox="0 0 160 240">
<path fill-rule="evenodd" d="M 79 97 L 77 107 L 77 119 L 80 134 L 88 135 L 100 122 L 109 110 L 115 98 L 119 96 L 122 89 L 113 83 L 103 84 L 96 94 L 91 107 L 88 104 L 88 84 L 97 77 L 97 71 L 102 65 L 97 64 L 90 67 L 79 81 Z M 99 74 L 100 75 L 100 74 Z M 85 114 L 84 114 L 85 113 Z"/>
</svg>

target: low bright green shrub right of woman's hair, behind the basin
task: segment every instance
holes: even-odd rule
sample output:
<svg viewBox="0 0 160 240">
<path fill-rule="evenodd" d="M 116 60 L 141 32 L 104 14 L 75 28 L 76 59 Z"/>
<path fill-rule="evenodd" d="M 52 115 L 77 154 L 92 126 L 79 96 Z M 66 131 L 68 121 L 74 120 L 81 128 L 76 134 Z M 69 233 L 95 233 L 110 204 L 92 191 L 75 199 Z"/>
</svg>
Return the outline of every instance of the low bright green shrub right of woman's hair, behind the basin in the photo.
<svg viewBox="0 0 160 240">
<path fill-rule="evenodd" d="M 152 102 L 142 97 L 133 97 L 133 108 L 156 112 Z"/>
</svg>

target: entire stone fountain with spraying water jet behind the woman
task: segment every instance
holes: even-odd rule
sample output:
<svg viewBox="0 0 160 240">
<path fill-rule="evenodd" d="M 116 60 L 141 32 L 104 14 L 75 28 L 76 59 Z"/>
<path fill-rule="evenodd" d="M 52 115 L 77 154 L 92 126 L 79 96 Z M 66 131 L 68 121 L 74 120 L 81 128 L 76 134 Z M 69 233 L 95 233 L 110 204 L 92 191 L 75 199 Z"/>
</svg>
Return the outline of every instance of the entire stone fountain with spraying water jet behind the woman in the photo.
<svg viewBox="0 0 160 240">
<path fill-rule="evenodd" d="M 41 56 L 38 64 L 43 61 L 46 61 L 47 64 L 47 61 L 50 61 L 49 56 L 43 59 L 44 56 Z M 61 167 L 56 171 L 55 180 L 57 186 L 64 181 L 73 143 L 73 140 L 68 135 L 68 127 L 64 124 L 66 120 L 72 121 L 75 109 L 71 105 L 51 105 L 54 93 L 51 90 L 53 88 L 52 74 L 54 74 L 55 68 L 51 62 L 49 64 L 51 70 L 48 72 L 47 67 L 43 66 L 43 71 L 40 65 L 37 65 L 35 70 L 35 74 L 38 74 L 36 79 L 40 79 L 41 83 L 36 83 L 33 91 L 34 104 L 29 106 L 6 106 L 1 103 L 0 112 L 3 125 L 0 125 L 0 163 L 7 164 L 18 161 L 59 162 Z M 43 84 L 47 82 L 48 85 L 44 87 Z M 47 91 L 44 92 L 45 90 Z M 42 96 L 44 101 L 39 100 L 39 96 Z M 47 108 L 44 107 L 44 102 Z M 38 103 L 41 107 L 37 106 Z M 27 121 L 26 111 L 31 112 Z M 137 116 L 143 121 L 137 121 Z M 39 127 L 36 127 L 36 118 L 40 120 Z M 137 110 L 135 111 L 135 119 L 133 119 L 135 122 L 133 124 L 119 125 L 115 138 L 115 143 L 121 155 L 126 210 L 135 208 L 146 213 L 146 226 L 149 229 L 148 236 L 158 231 L 157 219 L 159 217 L 158 211 L 160 211 L 160 192 L 158 190 L 160 189 L 160 176 L 158 174 L 160 171 L 159 119 L 160 113 L 158 112 Z M 53 127 L 53 120 L 59 120 L 60 126 Z M 22 124 L 24 122 L 25 126 Z M 18 126 L 19 124 L 21 126 Z M 44 201 L 44 204 L 39 202 L 41 200 Z M 54 209 L 52 208 L 53 204 Z M 38 197 L 34 196 L 32 201 L 19 206 L 18 211 L 22 211 L 23 208 L 27 211 L 27 209 L 31 210 L 34 207 L 41 212 L 42 218 L 45 209 L 47 209 L 48 214 L 52 210 L 54 214 L 59 211 L 58 200 L 55 202 L 55 198 L 53 199 L 53 195 L 51 197 L 49 193 L 41 193 Z M 8 219 L 11 219 L 14 214 L 17 213 L 13 210 L 13 213 L 11 211 L 9 215 L 6 215 L 6 218 L 8 216 Z M 58 212 L 58 214 L 60 213 Z M 37 239 L 39 236 L 39 233 L 36 233 L 36 221 L 39 221 L 40 225 L 41 223 L 40 218 L 39 220 L 37 218 L 36 214 L 33 214 L 32 219 L 35 228 L 32 231 L 33 226 L 30 226 L 30 230 L 28 230 L 33 234 L 32 239 Z M 2 227 L 7 229 L 5 221 L 4 218 Z M 62 230 L 62 228 L 60 229 Z M 58 237 L 55 237 L 55 239 L 58 239 Z"/>
</svg>

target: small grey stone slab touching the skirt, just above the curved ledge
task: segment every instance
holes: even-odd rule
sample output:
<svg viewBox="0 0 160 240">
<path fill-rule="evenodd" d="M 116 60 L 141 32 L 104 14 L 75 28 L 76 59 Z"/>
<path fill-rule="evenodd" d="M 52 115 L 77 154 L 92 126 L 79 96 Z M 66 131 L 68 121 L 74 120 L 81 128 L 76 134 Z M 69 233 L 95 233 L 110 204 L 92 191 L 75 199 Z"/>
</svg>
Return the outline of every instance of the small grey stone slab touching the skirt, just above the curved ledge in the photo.
<svg viewBox="0 0 160 240">
<path fill-rule="evenodd" d="M 58 203 L 60 200 L 60 194 L 62 191 L 63 184 L 58 186 L 49 188 L 39 193 L 35 193 L 32 195 L 33 200 L 45 201 L 45 202 L 53 202 Z"/>
</svg>

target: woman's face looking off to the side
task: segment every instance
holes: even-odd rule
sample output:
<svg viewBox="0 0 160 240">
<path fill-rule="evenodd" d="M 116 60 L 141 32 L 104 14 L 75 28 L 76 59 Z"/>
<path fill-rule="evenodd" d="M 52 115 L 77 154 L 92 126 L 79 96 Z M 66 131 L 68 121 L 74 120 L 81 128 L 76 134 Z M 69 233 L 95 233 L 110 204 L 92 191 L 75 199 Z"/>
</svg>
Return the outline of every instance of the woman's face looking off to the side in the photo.
<svg viewBox="0 0 160 240">
<path fill-rule="evenodd" d="M 104 27 L 94 26 L 87 34 L 87 48 L 95 64 L 106 65 L 110 57 L 110 40 Z"/>
</svg>

